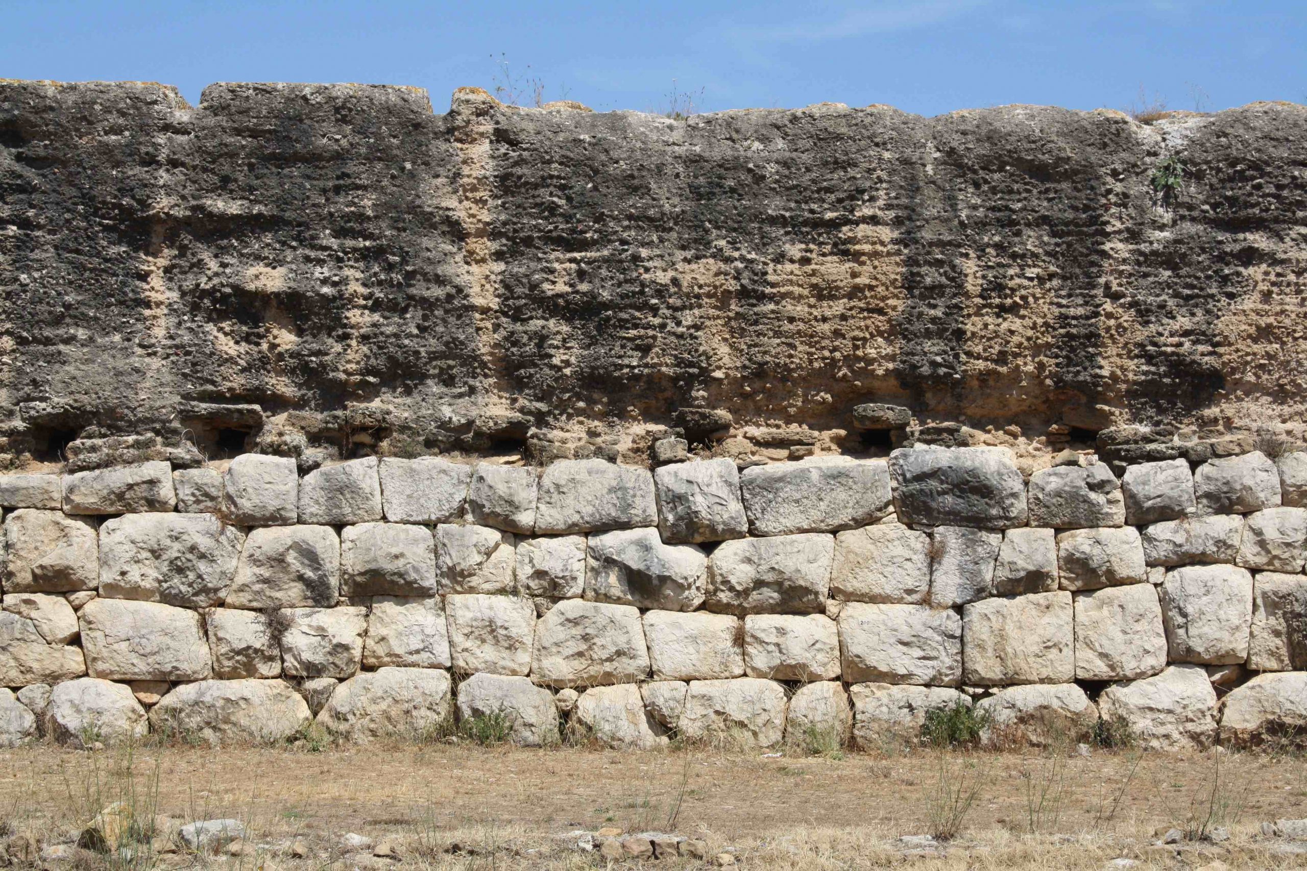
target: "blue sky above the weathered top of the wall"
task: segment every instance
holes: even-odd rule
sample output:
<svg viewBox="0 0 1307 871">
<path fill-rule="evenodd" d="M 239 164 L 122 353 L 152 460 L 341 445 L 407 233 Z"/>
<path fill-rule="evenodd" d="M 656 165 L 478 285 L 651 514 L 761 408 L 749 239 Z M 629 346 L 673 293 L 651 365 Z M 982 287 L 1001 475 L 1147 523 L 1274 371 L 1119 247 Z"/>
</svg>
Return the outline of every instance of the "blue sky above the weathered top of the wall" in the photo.
<svg viewBox="0 0 1307 871">
<path fill-rule="evenodd" d="M 1307 0 L 4 0 L 0 76 L 176 85 L 460 85 L 510 78 L 596 110 L 1001 103 L 1218 110 L 1307 103 Z M 528 69 L 529 65 L 529 69 Z M 701 97 L 702 89 L 702 97 Z M 529 102 L 529 95 L 525 98 Z"/>
</svg>

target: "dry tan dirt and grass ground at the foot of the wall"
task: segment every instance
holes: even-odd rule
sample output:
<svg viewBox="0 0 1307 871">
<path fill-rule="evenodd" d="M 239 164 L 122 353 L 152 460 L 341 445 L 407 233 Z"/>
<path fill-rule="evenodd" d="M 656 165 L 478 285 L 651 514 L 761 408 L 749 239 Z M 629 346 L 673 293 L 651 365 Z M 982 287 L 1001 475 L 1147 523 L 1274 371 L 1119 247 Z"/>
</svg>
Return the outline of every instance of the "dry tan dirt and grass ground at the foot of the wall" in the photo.
<svg viewBox="0 0 1307 871">
<path fill-rule="evenodd" d="M 965 799 L 970 785 L 978 791 L 957 837 L 935 845 L 898 840 L 937 831 L 948 816 L 938 808 L 959 806 L 950 799 Z M 171 827 L 235 817 L 248 834 L 230 851 L 239 855 L 195 855 L 157 837 L 153 847 L 145 838 L 129 854 L 65 846 L 61 859 L 42 862 L 33 850 L 16 863 L 233 871 L 637 864 L 580 850 L 575 834 L 562 837 L 608 827 L 674 831 L 706 841 L 710 857 L 729 853 L 737 864 L 758 868 L 1307 867 L 1307 842 L 1261 832 L 1264 821 L 1307 817 L 1302 755 L 1095 750 L 769 759 L 465 744 L 320 753 L 187 747 L 86 753 L 38 746 L 0 753 L 0 812 L 38 847 L 67 844 L 119 800 L 141 819 L 166 816 Z M 1216 831 L 1217 840 L 1159 845 L 1172 827 Z M 1221 840 L 1222 828 L 1229 840 Z M 388 842 L 395 855 L 349 846 L 346 833 Z M 704 866 L 689 858 L 646 863 Z"/>
</svg>

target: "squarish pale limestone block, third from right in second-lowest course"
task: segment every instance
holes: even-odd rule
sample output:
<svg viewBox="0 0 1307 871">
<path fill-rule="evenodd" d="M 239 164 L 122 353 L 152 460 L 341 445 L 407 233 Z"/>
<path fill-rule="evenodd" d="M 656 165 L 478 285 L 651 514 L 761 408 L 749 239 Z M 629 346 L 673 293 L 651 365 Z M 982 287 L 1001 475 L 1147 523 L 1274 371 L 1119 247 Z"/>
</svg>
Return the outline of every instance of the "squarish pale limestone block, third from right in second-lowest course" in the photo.
<svg viewBox="0 0 1307 871">
<path fill-rule="evenodd" d="M 1108 586 L 1074 598 L 1077 680 L 1131 680 L 1166 667 L 1157 588 Z"/>
</svg>

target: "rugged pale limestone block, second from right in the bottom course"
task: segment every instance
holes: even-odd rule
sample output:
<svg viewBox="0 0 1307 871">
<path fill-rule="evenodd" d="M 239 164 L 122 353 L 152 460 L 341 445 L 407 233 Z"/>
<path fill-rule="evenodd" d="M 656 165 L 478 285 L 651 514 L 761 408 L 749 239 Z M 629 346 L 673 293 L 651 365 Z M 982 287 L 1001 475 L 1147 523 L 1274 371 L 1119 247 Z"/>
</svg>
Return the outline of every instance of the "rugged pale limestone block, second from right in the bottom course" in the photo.
<svg viewBox="0 0 1307 871">
<path fill-rule="evenodd" d="M 1202 666 L 1175 665 L 1153 678 L 1115 683 L 1099 695 L 1098 713 L 1124 723 L 1141 750 L 1202 748 L 1217 736 L 1217 693 Z"/>
</svg>

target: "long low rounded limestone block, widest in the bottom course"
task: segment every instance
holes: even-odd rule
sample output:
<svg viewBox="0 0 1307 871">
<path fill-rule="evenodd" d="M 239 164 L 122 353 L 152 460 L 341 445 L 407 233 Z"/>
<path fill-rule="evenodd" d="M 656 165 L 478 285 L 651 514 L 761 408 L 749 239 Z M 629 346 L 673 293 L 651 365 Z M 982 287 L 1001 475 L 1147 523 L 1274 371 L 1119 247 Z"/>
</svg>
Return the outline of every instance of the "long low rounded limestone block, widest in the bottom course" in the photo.
<svg viewBox="0 0 1307 871">
<path fill-rule="evenodd" d="M 208 744 L 280 743 L 312 722 L 308 705 L 282 680 L 200 680 L 173 689 L 150 709 L 150 729 Z"/>
</svg>

